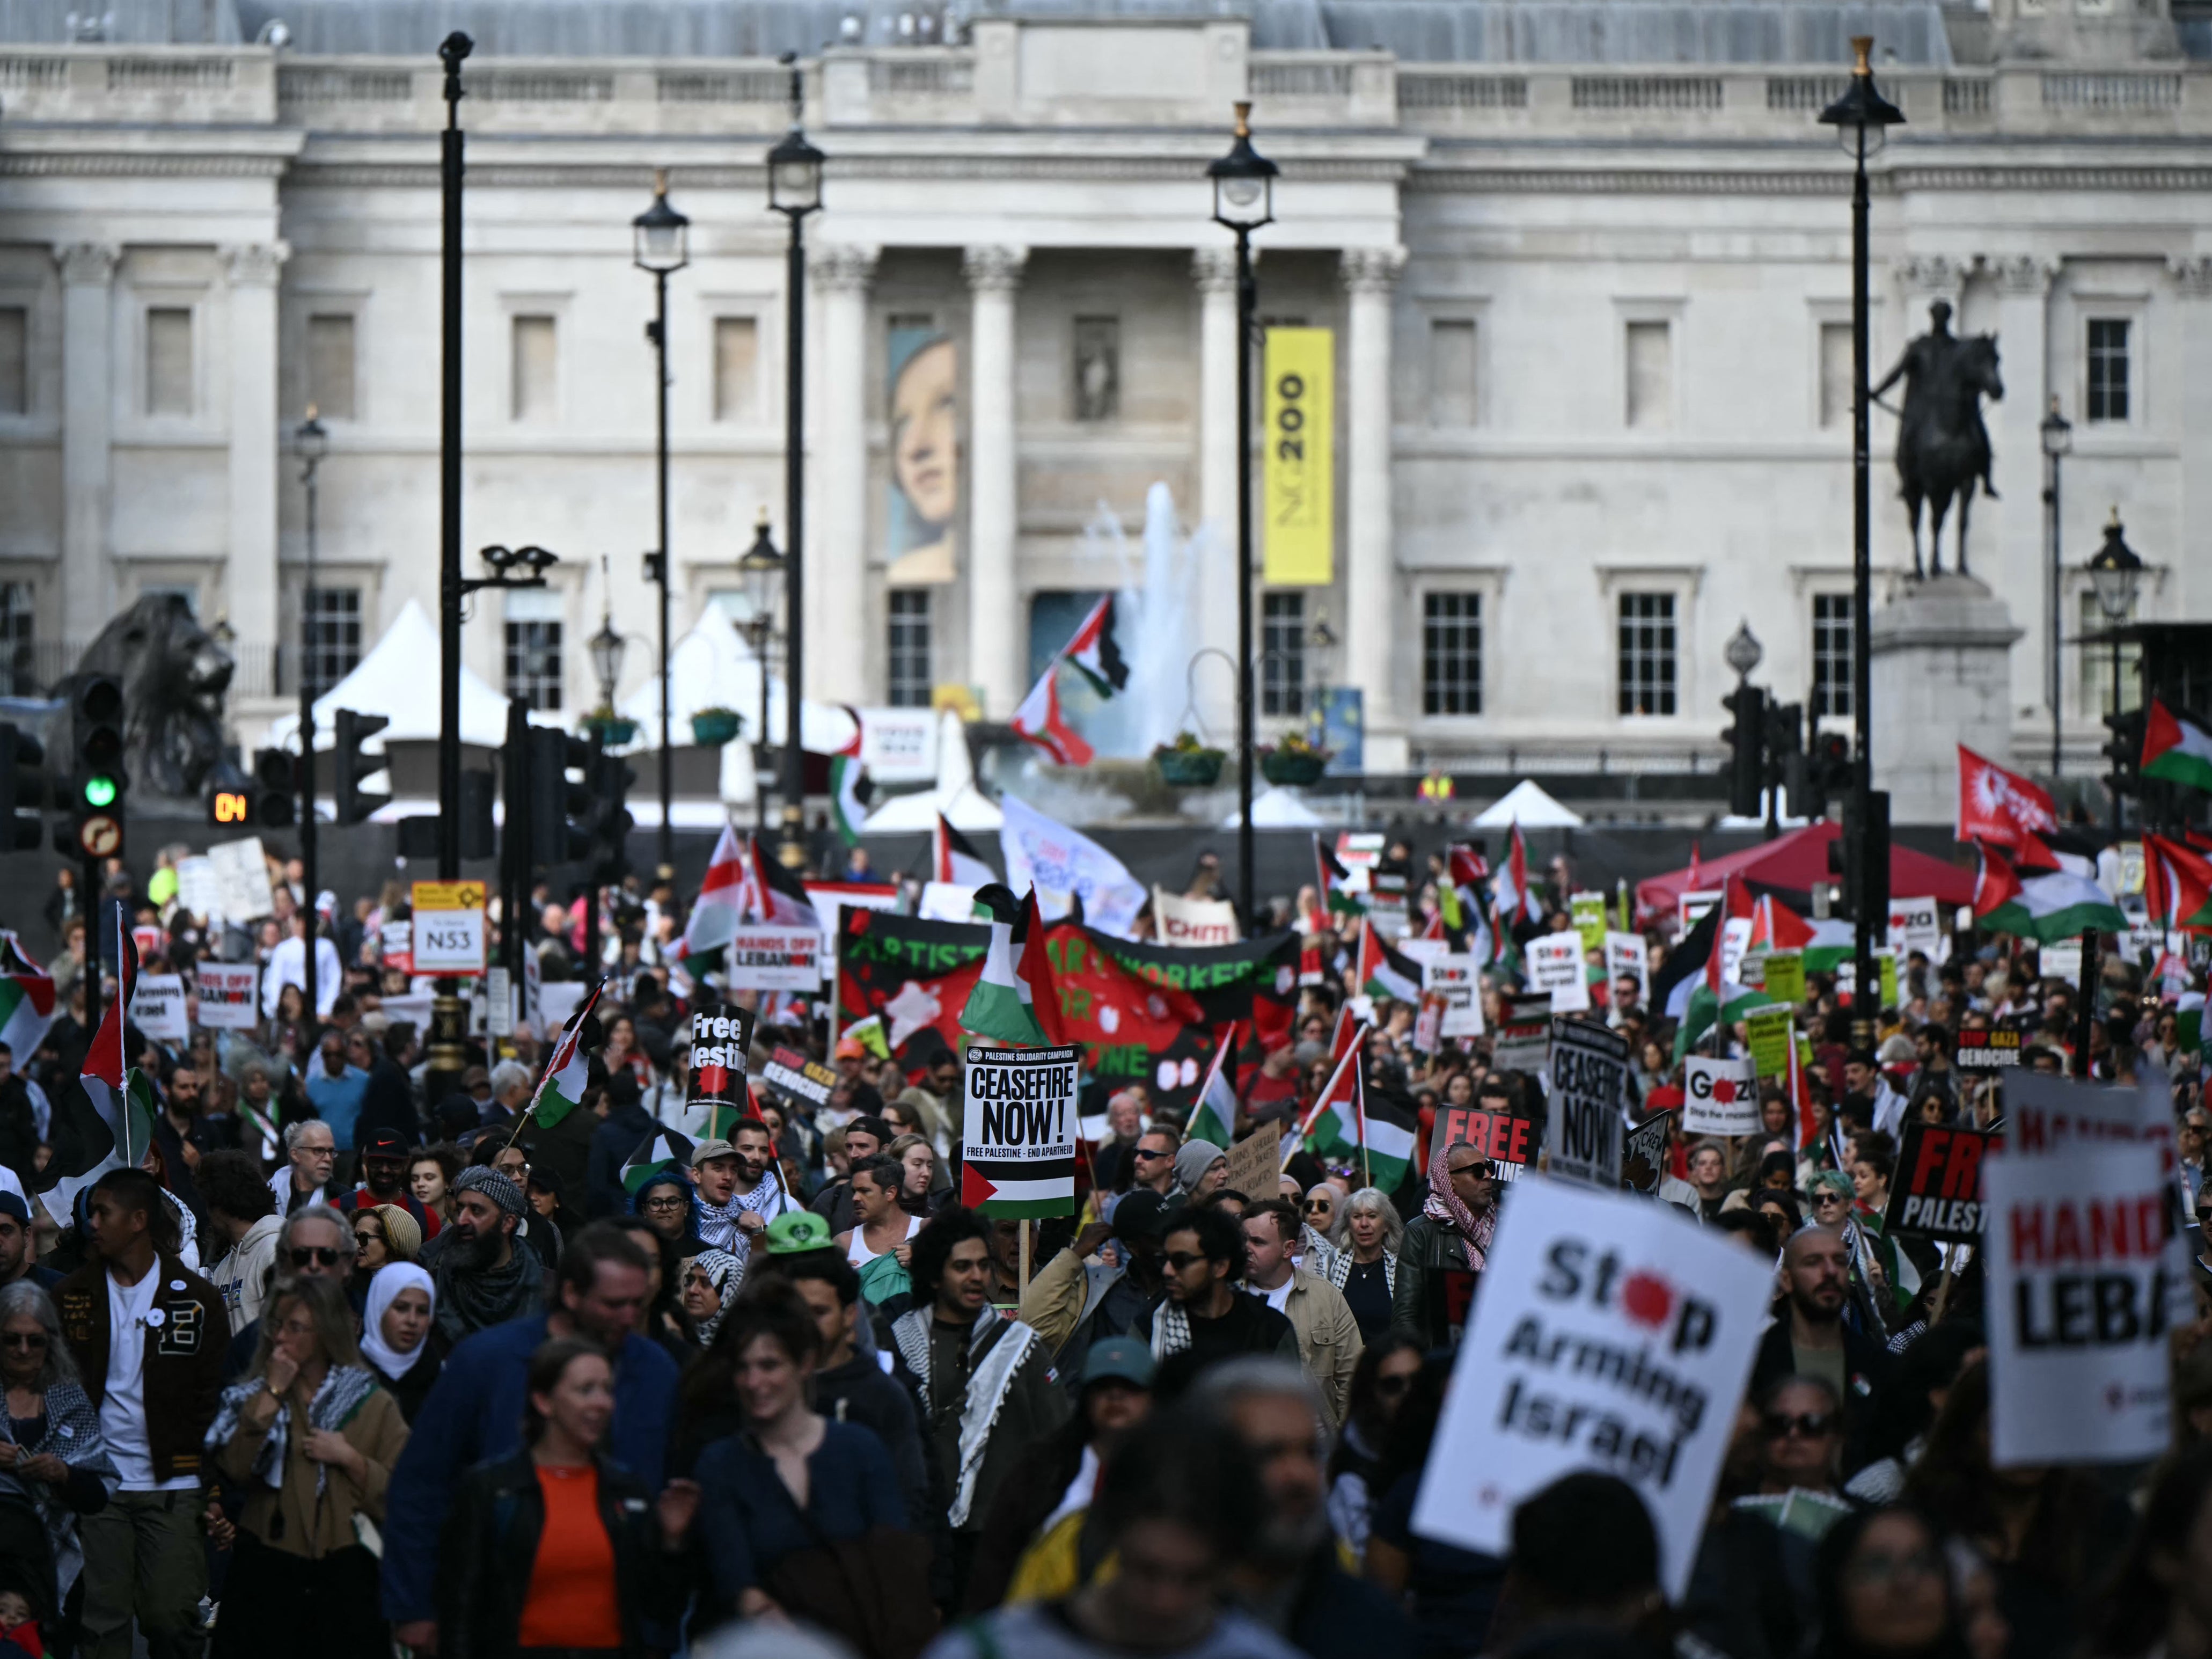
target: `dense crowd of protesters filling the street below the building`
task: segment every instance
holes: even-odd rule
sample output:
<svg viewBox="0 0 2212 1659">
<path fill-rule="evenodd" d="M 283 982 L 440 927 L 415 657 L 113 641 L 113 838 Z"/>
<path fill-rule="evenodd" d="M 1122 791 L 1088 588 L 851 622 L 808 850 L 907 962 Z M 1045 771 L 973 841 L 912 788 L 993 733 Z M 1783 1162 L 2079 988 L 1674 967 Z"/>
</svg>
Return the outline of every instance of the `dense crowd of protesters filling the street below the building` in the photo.
<svg viewBox="0 0 2212 1659">
<path fill-rule="evenodd" d="M 1444 869 L 1389 860 L 1420 931 Z M 261 1026 L 126 1031 L 153 1144 L 55 1217 L 86 938 L 119 916 L 142 967 L 186 975 L 239 956 L 159 876 L 137 894 L 111 872 L 91 916 L 58 896 L 55 1020 L 35 1053 L 0 1048 L 0 1650 L 2212 1659 L 2208 1119 L 2143 964 L 2108 958 L 2084 991 L 2042 978 L 2033 942 L 1966 929 L 1900 967 L 1871 1042 L 1814 973 L 1814 1133 L 1772 1086 L 1763 1133 L 1725 1141 L 1681 1133 L 1674 1024 L 1590 953 L 1628 1113 L 1668 1121 L 1655 1201 L 1774 1261 L 1670 1601 L 1652 1517 L 1610 1475 L 1528 1498 L 1502 1557 L 1413 1531 L 1546 1110 L 1489 1040 L 1431 1053 L 1411 1002 L 1363 998 L 1318 894 L 1276 905 L 1323 967 L 1239 1071 L 1230 1146 L 1146 1086 L 1095 1099 L 1077 1214 L 1031 1228 L 958 1201 L 953 1051 L 827 1046 L 787 1004 L 761 1009 L 757 1062 L 812 1053 L 827 1104 L 757 1086 L 754 1117 L 641 1164 L 690 1121 L 666 883 L 604 896 L 604 964 L 580 960 L 580 902 L 533 909 L 544 980 L 606 978 L 584 1102 L 546 1124 L 529 1033 L 473 1040 L 429 1097 L 418 1022 L 392 1011 L 420 987 L 383 962 L 398 887 L 316 905 L 334 973 L 310 1013 L 307 894 L 279 867 L 248 942 Z M 1573 874 L 1553 876 L 1522 945 L 1571 927 Z M 1491 1029 L 1509 989 L 1489 975 Z M 2028 1064 L 2132 1082 L 2157 1062 L 2172 1084 L 2197 1318 L 2157 1467 L 1995 1469 L 1980 1263 L 1882 1232 L 1902 1126 L 1995 1119 L 1953 1053 L 2000 1024 Z M 1279 1124 L 1294 1148 L 1347 1029 L 1367 1088 L 1418 1124 L 1405 1179 L 1294 1150 L 1272 1188 L 1234 1190 L 1234 1141 Z M 1743 1031 L 1708 1046 L 1741 1053 Z M 1526 1124 L 1526 1164 L 1449 1139 L 1455 1110 Z"/>
</svg>

